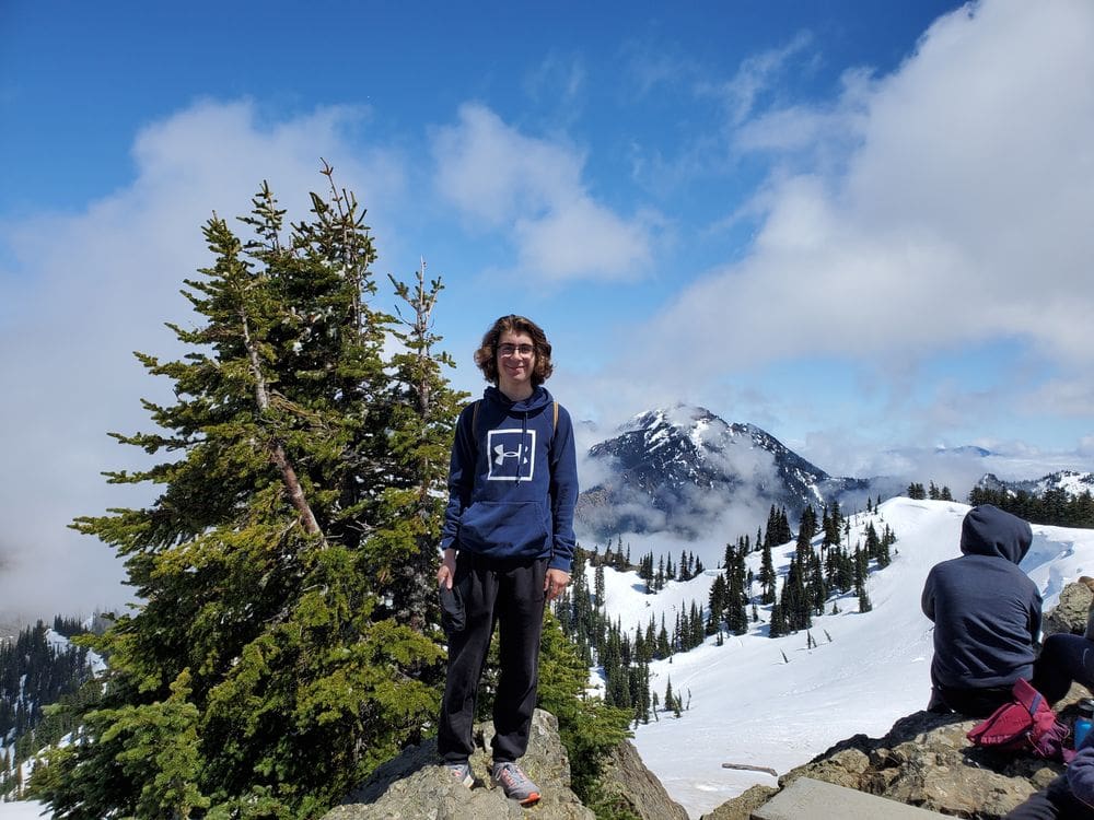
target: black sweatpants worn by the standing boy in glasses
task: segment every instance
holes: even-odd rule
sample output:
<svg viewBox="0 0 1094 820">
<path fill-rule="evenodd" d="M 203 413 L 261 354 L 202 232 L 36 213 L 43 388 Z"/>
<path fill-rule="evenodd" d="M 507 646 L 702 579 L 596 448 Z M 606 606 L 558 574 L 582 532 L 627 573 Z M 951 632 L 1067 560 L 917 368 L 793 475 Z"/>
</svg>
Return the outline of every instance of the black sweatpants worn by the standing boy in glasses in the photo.
<svg viewBox="0 0 1094 820">
<path fill-rule="evenodd" d="M 546 559 L 501 562 L 457 553 L 453 586 L 463 599 L 466 624 L 449 635 L 449 673 L 437 734 L 445 762 L 466 761 L 474 751 L 475 702 L 494 624 L 501 669 L 493 704 L 493 760 L 524 757 L 539 681 L 546 574 Z"/>
</svg>

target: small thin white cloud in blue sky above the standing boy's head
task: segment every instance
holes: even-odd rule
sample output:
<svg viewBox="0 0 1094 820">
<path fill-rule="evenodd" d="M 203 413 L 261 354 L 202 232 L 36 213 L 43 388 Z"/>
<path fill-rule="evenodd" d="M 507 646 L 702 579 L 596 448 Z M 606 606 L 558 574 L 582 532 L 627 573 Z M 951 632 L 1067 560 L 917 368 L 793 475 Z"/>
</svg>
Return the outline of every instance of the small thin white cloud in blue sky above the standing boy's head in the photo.
<svg viewBox="0 0 1094 820">
<path fill-rule="evenodd" d="M 551 281 L 633 280 L 652 257 L 650 223 L 596 202 L 572 147 L 526 137 L 482 105 L 440 129 L 438 188 L 481 227 L 511 231 L 523 271 Z"/>
</svg>

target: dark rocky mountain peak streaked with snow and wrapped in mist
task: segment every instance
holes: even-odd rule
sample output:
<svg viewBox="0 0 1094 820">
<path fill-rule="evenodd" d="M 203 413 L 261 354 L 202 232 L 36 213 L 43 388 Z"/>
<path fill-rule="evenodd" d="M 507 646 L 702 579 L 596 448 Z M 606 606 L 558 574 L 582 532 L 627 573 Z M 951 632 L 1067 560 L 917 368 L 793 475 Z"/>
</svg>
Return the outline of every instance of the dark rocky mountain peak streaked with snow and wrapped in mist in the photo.
<svg viewBox="0 0 1094 820">
<path fill-rule="evenodd" d="M 755 425 L 686 405 L 635 417 L 589 457 L 606 478 L 581 494 L 578 520 L 595 537 L 695 538 L 731 506 L 752 508 L 757 524 L 771 504 L 796 520 L 807 504 L 842 504 L 850 494 L 862 504 L 870 489 L 869 481 L 829 476 Z"/>
</svg>

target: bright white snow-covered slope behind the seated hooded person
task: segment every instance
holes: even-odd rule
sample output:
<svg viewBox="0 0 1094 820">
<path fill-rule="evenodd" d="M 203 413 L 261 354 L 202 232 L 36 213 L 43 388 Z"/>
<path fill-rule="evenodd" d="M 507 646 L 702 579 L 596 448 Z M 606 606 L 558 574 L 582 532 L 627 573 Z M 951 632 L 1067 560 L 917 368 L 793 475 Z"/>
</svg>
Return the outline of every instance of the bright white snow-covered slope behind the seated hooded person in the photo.
<svg viewBox="0 0 1094 820">
<path fill-rule="evenodd" d="M 635 743 L 647 765 L 691 817 L 699 817 L 754 783 L 775 784 L 766 774 L 722 769 L 723 762 L 769 766 L 780 774 L 835 742 L 863 733 L 884 734 L 904 715 L 922 708 L 930 689 L 931 623 L 919 600 L 927 573 L 958 554 L 961 522 L 968 506 L 954 502 L 893 499 L 873 516 L 881 531 L 897 536 L 893 563 L 871 573 L 873 611 L 859 613 L 853 595 L 839 600 L 838 614 L 814 619 L 819 644 L 806 648 L 805 633 L 768 639 L 766 624 L 749 634 L 714 639 L 672 661 L 656 661 L 651 689 L 663 696 L 672 678 L 690 708 L 679 719 L 666 713 L 639 726 Z M 861 538 L 868 516 L 852 519 L 851 542 Z M 1022 566 L 1055 606 L 1062 586 L 1094 575 L 1094 530 L 1034 528 L 1034 543 Z M 784 571 L 792 544 L 772 553 Z M 759 554 L 749 557 L 758 570 Z M 670 631 L 679 607 L 706 605 L 717 571 L 686 584 L 670 584 L 656 596 L 642 593 L 633 573 L 605 573 L 606 608 L 625 626 L 647 623 L 661 612 Z M 590 579 L 592 583 L 592 578 Z M 830 608 L 830 607 L 829 607 Z M 760 619 L 767 612 L 760 608 Z M 828 636 L 830 635 L 830 642 Z M 785 653 L 789 663 L 782 657 Z"/>
</svg>

